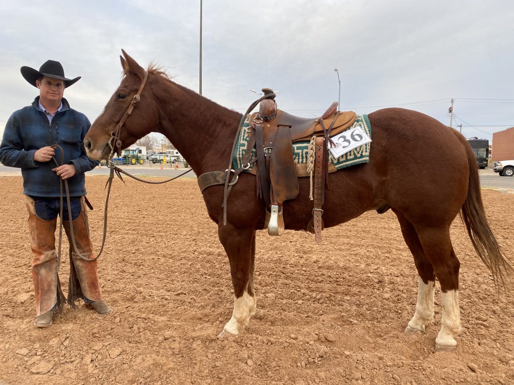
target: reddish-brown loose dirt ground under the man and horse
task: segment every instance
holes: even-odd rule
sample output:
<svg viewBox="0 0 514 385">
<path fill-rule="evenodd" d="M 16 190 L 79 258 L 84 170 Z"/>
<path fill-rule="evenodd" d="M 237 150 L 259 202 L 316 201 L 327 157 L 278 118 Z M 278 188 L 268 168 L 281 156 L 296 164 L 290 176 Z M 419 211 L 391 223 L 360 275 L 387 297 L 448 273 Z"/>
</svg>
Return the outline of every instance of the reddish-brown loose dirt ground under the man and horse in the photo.
<svg viewBox="0 0 514 385">
<path fill-rule="evenodd" d="M 105 181 L 86 178 L 97 251 Z M 434 351 L 437 284 L 435 322 L 423 335 L 403 333 L 417 274 L 391 211 L 326 229 L 321 245 L 304 232 L 258 232 L 257 313 L 240 335 L 218 339 L 232 314 L 229 265 L 195 179 L 115 181 L 99 260 L 114 313 L 101 317 L 81 302 L 51 328 L 35 329 L 22 179 L 0 177 L 0 185 L 0 384 L 514 383 L 514 296 L 497 295 L 458 217 L 451 234 L 463 331 L 452 353 Z M 483 197 L 514 259 L 514 194 L 483 190 Z"/>
</svg>

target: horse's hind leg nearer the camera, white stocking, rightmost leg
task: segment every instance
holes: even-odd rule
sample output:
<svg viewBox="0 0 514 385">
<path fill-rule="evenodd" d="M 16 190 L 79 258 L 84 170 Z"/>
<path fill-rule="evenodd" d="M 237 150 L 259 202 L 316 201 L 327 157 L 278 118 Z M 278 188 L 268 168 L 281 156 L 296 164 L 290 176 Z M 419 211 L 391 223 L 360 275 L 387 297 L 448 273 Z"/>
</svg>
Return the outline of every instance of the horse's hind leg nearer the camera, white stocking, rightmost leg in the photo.
<svg viewBox="0 0 514 385">
<path fill-rule="evenodd" d="M 418 227 L 417 233 L 441 285 L 441 330 L 435 339 L 435 350 L 452 351 L 457 348 L 454 337 L 461 331 L 458 306 L 458 272 L 461 264 L 453 251 L 449 225 Z"/>
</svg>

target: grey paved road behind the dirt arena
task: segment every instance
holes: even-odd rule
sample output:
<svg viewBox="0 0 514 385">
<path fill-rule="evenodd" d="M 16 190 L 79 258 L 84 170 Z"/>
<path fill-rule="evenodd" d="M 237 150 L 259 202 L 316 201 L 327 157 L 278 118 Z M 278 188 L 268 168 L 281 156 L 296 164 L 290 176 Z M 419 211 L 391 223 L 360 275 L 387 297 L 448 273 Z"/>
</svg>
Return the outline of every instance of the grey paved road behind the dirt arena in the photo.
<svg viewBox="0 0 514 385">
<path fill-rule="evenodd" d="M 152 166 L 133 165 L 119 167 L 137 177 L 172 178 L 176 177 L 177 175 L 181 174 L 181 172 L 184 172 L 186 170 L 186 168 L 184 168 L 181 164 L 178 166 L 178 169 L 176 170 L 174 165 L 172 165 L 172 167 L 170 167 L 169 165 L 164 165 L 161 170 L 160 165 L 158 164 Z M 479 172 L 482 187 L 493 187 L 507 190 L 510 189 L 512 190 L 512 192 L 514 192 L 514 177 L 500 177 L 490 168 L 480 170 Z M 0 177 L 13 175 L 21 176 L 21 170 L 19 168 L 6 167 L 4 165 L 0 165 Z M 95 167 L 94 170 L 87 172 L 86 175 L 109 175 L 109 169 L 106 166 L 102 166 L 101 168 Z M 188 172 L 188 174 L 186 174 L 182 178 L 196 178 L 196 175 L 193 171 L 191 171 Z"/>
</svg>

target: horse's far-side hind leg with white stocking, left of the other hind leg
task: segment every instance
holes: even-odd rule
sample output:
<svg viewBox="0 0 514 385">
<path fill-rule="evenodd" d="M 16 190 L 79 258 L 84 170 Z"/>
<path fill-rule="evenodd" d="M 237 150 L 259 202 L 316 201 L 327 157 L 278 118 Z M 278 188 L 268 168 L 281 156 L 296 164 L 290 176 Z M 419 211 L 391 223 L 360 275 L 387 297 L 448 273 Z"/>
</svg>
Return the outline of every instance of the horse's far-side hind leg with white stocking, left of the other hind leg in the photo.
<svg viewBox="0 0 514 385">
<path fill-rule="evenodd" d="M 414 257 L 414 264 L 418 271 L 418 297 L 416 302 L 416 311 L 412 319 L 409 321 L 405 332 L 424 333 L 425 324 L 431 322 L 434 318 L 434 268 L 423 251 L 423 246 L 421 246 L 421 242 L 419 242 L 419 237 L 412 223 L 409 222 L 399 211 L 395 209 L 393 209 L 393 211 L 398 217 L 401 234 Z"/>
</svg>

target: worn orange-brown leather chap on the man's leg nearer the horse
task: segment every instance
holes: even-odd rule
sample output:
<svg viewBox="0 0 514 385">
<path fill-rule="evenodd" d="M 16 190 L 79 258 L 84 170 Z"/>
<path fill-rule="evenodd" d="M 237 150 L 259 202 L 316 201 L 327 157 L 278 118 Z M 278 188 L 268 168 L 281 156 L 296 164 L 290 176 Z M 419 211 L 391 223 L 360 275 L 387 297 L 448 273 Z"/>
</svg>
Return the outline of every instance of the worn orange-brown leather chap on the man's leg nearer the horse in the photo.
<svg viewBox="0 0 514 385">
<path fill-rule="evenodd" d="M 84 198 L 81 199 L 81 213 L 79 217 L 71 223 L 73 225 L 77 251 L 86 258 L 95 258 L 93 255 L 93 245 L 91 245 L 89 239 L 89 227 Z M 75 287 L 75 285 L 72 284 L 72 280 L 74 280 L 75 277 L 70 277 L 70 285 L 68 287 L 68 300 L 71 302 L 70 305 L 72 305 L 77 298 L 82 297 L 82 295 L 91 301 L 102 301 L 102 292 L 98 281 L 97 261 L 89 262 L 81 259 L 72 246 L 70 222 L 63 221 L 63 227 L 70 244 L 70 263 L 72 263 L 70 270 L 74 269 L 71 273 L 76 273 L 79 286 Z"/>
</svg>

